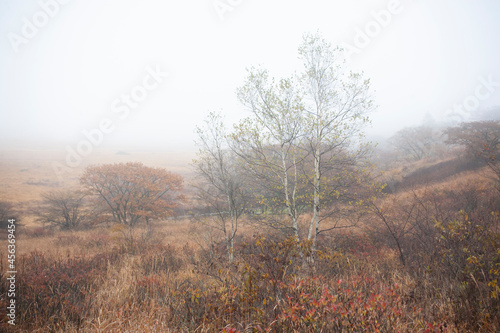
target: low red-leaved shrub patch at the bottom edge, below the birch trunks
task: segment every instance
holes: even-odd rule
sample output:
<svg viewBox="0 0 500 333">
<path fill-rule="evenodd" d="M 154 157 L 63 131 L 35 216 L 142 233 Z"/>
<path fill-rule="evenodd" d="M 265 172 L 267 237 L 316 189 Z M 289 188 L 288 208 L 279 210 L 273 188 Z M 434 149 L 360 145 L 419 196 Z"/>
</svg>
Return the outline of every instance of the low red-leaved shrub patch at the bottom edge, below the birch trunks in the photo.
<svg viewBox="0 0 500 333">
<path fill-rule="evenodd" d="M 422 320 L 417 306 L 407 307 L 398 289 L 364 275 L 300 280 L 289 285 L 275 325 L 288 332 L 444 331 L 443 323 Z"/>
</svg>

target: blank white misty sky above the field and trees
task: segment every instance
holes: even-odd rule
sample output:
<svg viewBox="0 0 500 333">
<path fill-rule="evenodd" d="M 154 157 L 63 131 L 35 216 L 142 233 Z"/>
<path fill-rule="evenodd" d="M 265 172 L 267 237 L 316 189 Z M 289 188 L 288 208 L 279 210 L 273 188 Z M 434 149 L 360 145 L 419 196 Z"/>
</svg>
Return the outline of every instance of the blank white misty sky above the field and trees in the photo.
<svg viewBox="0 0 500 333">
<path fill-rule="evenodd" d="M 193 149 L 208 111 L 245 115 L 246 68 L 300 71 L 297 47 L 317 30 L 357 48 L 371 134 L 500 105 L 498 0 L 2 0 L 0 145 L 64 150 L 101 126 L 103 147 Z"/>
</svg>

